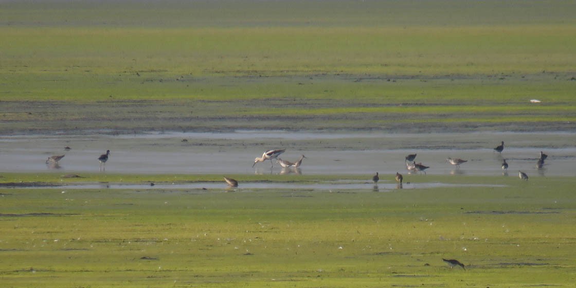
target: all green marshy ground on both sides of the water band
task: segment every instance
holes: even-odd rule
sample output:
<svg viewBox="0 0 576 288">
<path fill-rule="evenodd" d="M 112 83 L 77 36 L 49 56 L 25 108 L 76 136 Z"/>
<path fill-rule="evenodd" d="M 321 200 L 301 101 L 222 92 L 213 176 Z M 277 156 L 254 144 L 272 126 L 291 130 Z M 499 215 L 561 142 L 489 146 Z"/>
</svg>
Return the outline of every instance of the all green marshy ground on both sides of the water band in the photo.
<svg viewBox="0 0 576 288">
<path fill-rule="evenodd" d="M 572 1 L 2 1 L 0 134 L 573 132 L 574 15 Z M 232 192 L 221 175 L 84 176 L 0 174 L 40 185 L 0 186 L 2 287 L 576 281 L 574 177 L 374 192 L 291 187 L 361 176 L 242 175 L 286 188 Z M 222 189 L 46 186 L 150 181 Z"/>
</svg>

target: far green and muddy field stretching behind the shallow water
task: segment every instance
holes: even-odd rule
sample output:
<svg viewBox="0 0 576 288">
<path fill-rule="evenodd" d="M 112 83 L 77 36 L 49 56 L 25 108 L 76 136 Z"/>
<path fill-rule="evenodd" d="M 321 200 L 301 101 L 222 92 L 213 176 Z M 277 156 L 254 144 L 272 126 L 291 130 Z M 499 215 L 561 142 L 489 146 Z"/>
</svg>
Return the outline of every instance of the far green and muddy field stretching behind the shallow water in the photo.
<svg viewBox="0 0 576 288">
<path fill-rule="evenodd" d="M 6 133 L 576 120 L 570 1 L 45 5 L 0 4 Z"/>
</svg>

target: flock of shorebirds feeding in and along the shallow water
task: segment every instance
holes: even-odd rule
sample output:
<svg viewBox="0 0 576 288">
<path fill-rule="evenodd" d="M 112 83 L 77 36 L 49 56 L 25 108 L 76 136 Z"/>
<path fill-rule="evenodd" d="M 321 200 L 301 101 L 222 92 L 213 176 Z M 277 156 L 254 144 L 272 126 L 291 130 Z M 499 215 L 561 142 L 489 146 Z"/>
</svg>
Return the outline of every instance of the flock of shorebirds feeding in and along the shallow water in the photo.
<svg viewBox="0 0 576 288">
<path fill-rule="evenodd" d="M 65 147 L 65 150 L 70 150 L 70 147 Z M 504 150 L 504 141 L 502 141 L 501 145 L 498 145 L 494 148 L 494 151 L 497 151 L 498 153 L 502 153 L 503 150 Z M 267 150 L 262 154 L 261 157 L 256 157 L 254 159 L 254 164 L 252 164 L 252 167 L 254 167 L 259 162 L 266 162 L 267 160 L 270 160 L 270 164 L 273 167 L 274 162 L 272 162 L 272 160 L 275 159 L 276 163 L 280 164 L 280 166 L 282 166 L 283 169 L 300 169 L 300 165 L 302 165 L 302 160 L 304 160 L 304 158 L 306 158 L 306 156 L 302 155 L 302 156 L 300 156 L 300 158 L 296 162 L 290 162 L 290 161 L 286 161 L 286 160 L 283 160 L 282 158 L 278 157 L 282 153 L 284 153 L 285 151 L 286 151 L 285 149 Z M 406 164 L 406 169 L 408 170 L 408 173 L 423 172 L 426 174 L 426 169 L 430 168 L 430 166 L 423 165 L 422 162 L 416 163 L 416 161 L 415 161 L 416 155 L 417 154 L 410 154 L 410 155 L 405 157 L 405 164 Z M 62 158 L 64 158 L 64 156 L 65 155 L 48 157 L 48 159 L 46 160 L 46 164 L 58 165 L 58 161 L 62 160 Z M 100 157 L 98 157 L 98 161 L 100 162 L 100 171 L 104 171 L 106 169 L 105 164 L 106 164 L 106 161 L 108 161 L 109 156 L 110 156 L 110 150 L 107 150 L 105 154 L 101 154 Z M 536 167 L 542 168 L 544 166 L 544 161 L 546 160 L 547 157 L 548 157 L 548 155 L 544 154 L 543 151 L 540 151 L 540 157 L 538 158 L 538 161 L 536 162 Z M 448 158 L 446 158 L 446 162 L 456 166 L 456 168 L 460 168 L 460 165 L 464 164 L 465 162 L 468 162 L 468 160 L 463 160 L 461 158 L 448 157 Z M 505 171 L 506 173 L 508 170 L 508 166 L 509 166 L 509 164 L 506 162 L 506 159 L 503 159 L 502 170 Z M 526 173 L 522 172 L 521 170 L 518 170 L 518 177 L 520 177 L 520 179 L 522 179 L 522 180 L 526 180 L 526 181 L 528 180 L 528 175 L 526 175 Z M 401 187 L 403 184 L 404 177 L 400 173 L 396 172 L 395 179 L 396 179 L 397 183 L 399 184 L 399 187 Z M 228 183 L 228 185 L 230 187 L 238 187 L 238 181 L 237 180 L 232 179 L 230 177 L 224 177 L 224 180 L 226 181 L 226 183 Z M 379 180 L 380 180 L 380 176 L 378 175 L 378 172 L 376 172 L 376 175 L 374 175 L 372 177 L 372 181 L 374 183 L 378 183 Z"/>
</svg>

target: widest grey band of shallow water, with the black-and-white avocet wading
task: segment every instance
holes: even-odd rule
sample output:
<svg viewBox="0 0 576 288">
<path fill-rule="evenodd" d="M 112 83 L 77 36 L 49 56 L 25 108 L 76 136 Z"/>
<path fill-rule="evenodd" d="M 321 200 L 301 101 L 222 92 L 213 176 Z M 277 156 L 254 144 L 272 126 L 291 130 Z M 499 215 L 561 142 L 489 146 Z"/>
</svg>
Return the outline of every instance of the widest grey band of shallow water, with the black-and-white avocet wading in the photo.
<svg viewBox="0 0 576 288">
<path fill-rule="evenodd" d="M 183 139 L 187 141 L 183 142 Z M 230 133 L 149 133 L 135 135 L 20 135 L 0 139 L 0 173 L 98 172 L 97 157 L 111 150 L 103 173 L 190 174 L 408 174 L 407 154 L 430 166 L 427 175 L 509 175 L 522 170 L 530 176 L 575 176 L 576 133 L 473 132 L 442 134 L 333 133 L 237 131 Z M 505 141 L 499 154 L 492 148 Z M 63 148 L 70 146 L 70 151 Z M 267 149 L 286 149 L 281 158 L 301 169 L 282 170 L 270 161 L 252 168 L 253 159 Z M 539 152 L 548 154 L 544 169 L 536 168 Z M 45 164 L 52 155 L 66 154 L 57 167 Z M 446 157 L 468 162 L 454 168 Z M 418 175 L 425 177 L 426 175 Z M 381 177 L 381 179 L 385 179 Z M 393 179 L 393 176 L 391 176 Z"/>
</svg>

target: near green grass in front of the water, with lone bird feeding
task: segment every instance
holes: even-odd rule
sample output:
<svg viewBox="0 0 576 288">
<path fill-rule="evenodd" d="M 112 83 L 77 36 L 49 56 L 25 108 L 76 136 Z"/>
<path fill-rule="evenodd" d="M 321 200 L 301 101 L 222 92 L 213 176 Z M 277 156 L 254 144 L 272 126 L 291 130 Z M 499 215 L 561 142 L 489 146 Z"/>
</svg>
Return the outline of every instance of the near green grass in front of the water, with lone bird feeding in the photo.
<svg viewBox="0 0 576 288">
<path fill-rule="evenodd" d="M 50 180 L 46 177 L 42 180 Z M 139 176 L 111 175 L 119 177 L 139 181 Z M 195 177 L 212 179 L 189 180 Z M 573 283 L 573 177 L 534 177 L 528 182 L 516 177 L 427 178 L 505 187 L 329 193 L 293 190 L 287 182 L 285 190 L 238 192 L 2 189 L 3 285 Z M 442 257 L 461 260 L 467 271 L 450 271 Z"/>
</svg>

